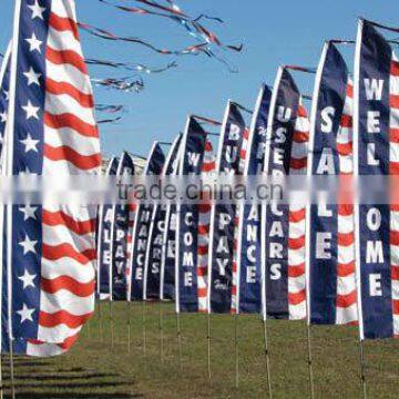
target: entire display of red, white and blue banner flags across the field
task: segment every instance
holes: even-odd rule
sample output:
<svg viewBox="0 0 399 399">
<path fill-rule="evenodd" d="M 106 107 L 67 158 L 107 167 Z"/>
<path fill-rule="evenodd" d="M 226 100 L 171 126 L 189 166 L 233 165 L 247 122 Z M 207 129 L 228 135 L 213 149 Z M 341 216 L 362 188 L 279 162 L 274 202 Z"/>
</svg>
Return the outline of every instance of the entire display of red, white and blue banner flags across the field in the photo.
<svg viewBox="0 0 399 399">
<path fill-rule="evenodd" d="M 227 103 L 216 156 L 204 127 L 212 121 L 191 115 L 167 154 L 153 144 L 144 175 L 338 175 L 338 196 L 351 177 L 396 175 L 399 62 L 379 29 L 390 28 L 359 21 L 354 75 L 340 42 L 326 42 L 310 119 L 290 71 L 311 71 L 280 66 L 274 86 L 262 86 L 249 127 L 247 110 Z M 16 1 L 0 133 L 3 176 L 100 173 L 72 0 Z M 106 171 L 135 172 L 127 152 Z M 205 200 L 98 208 L 44 197 L 0 211 L 2 352 L 68 350 L 93 314 L 95 291 L 100 299 L 174 300 L 177 313 L 359 324 L 361 340 L 399 335 L 395 204 Z"/>
</svg>

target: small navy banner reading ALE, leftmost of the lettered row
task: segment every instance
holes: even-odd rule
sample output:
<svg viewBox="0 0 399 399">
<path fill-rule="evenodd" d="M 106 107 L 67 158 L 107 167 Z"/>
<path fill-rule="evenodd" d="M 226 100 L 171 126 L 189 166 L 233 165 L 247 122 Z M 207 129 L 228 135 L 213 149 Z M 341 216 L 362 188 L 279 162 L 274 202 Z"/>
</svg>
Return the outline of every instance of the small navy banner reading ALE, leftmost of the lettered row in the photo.
<svg viewBox="0 0 399 399">
<path fill-rule="evenodd" d="M 119 158 L 111 158 L 106 176 L 116 175 Z M 111 228 L 114 223 L 113 204 L 104 204 L 99 209 L 98 226 L 98 297 L 109 299 L 111 297 Z"/>
</svg>

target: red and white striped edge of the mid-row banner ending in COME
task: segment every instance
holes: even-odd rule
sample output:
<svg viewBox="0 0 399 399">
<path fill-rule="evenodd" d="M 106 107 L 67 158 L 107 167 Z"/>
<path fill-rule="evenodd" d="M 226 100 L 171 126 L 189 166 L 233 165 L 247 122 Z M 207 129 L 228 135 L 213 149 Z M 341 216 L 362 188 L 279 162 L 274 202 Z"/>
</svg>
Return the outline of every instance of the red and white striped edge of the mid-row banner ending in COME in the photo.
<svg viewBox="0 0 399 399">
<path fill-rule="evenodd" d="M 202 165 L 202 178 L 211 177 L 216 171 L 215 155 L 212 143 L 206 140 L 204 162 Z M 197 247 L 197 295 L 198 311 L 207 313 L 207 275 L 208 275 L 208 247 L 211 225 L 211 202 L 203 201 L 200 204 L 198 215 L 198 247 Z"/>
</svg>

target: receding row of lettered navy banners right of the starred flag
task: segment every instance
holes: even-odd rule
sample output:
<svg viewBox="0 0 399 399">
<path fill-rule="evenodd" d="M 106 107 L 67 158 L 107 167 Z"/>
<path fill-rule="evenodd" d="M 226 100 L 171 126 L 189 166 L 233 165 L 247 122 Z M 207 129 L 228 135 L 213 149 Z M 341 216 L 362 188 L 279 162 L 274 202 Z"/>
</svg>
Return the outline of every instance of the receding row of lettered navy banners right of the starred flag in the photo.
<svg viewBox="0 0 399 399">
<path fill-rule="evenodd" d="M 163 176 L 332 175 L 339 201 L 139 204 L 125 212 L 132 219 L 124 234 L 117 209 L 106 218 L 104 205 L 100 298 L 170 299 L 177 313 L 359 324 L 361 339 L 398 335 L 397 206 L 358 205 L 345 188 L 359 175 L 397 173 L 399 62 L 376 24 L 360 20 L 350 74 L 338 50 L 349 43 L 326 42 L 317 70 L 280 66 L 274 86 L 262 88 L 249 129 L 243 108 L 229 101 L 215 157 L 204 123 L 188 116 L 168 155 L 155 143 L 145 168 Z M 309 116 L 291 70 L 316 73 Z M 119 166 L 112 160 L 109 173 L 122 173 L 127 155 Z M 120 237 L 123 260 L 112 250 Z"/>
</svg>

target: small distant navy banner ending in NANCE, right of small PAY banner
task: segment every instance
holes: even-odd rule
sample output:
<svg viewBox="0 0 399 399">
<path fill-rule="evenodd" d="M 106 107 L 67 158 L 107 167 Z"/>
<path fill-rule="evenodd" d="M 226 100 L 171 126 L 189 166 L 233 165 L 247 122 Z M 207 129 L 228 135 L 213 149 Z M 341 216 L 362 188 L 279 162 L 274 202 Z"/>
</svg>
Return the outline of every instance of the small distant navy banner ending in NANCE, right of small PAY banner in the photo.
<svg viewBox="0 0 399 399">
<path fill-rule="evenodd" d="M 144 168 L 145 176 L 160 176 L 165 163 L 165 155 L 157 142 L 154 142 Z M 143 299 L 143 275 L 145 254 L 147 249 L 151 215 L 154 205 L 149 203 L 139 204 L 133 227 L 133 243 L 130 259 L 130 284 L 127 286 L 127 300 Z"/>
</svg>

